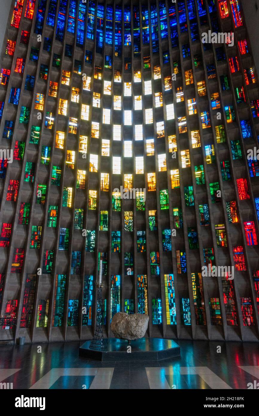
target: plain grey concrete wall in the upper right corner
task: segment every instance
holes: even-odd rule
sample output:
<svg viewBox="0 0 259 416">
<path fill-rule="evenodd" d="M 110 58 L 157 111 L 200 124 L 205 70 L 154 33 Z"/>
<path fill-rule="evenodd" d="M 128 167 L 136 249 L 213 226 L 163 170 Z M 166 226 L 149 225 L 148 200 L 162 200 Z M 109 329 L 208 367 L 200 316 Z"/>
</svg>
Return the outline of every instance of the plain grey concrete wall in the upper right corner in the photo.
<svg viewBox="0 0 259 416">
<path fill-rule="evenodd" d="M 257 74 L 259 74 L 259 0 L 241 0 L 241 2 L 252 46 L 252 53 L 257 67 Z"/>
</svg>

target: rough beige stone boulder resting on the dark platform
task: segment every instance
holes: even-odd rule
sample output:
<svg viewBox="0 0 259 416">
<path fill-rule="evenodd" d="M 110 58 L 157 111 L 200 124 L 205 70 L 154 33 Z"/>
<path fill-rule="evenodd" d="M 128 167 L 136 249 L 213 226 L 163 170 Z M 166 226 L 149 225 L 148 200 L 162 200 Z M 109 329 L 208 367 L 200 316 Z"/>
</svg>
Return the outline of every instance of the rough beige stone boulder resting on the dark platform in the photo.
<svg viewBox="0 0 259 416">
<path fill-rule="evenodd" d="M 111 320 L 111 330 L 116 338 L 138 339 L 144 337 L 148 321 L 146 314 L 118 312 Z"/>
</svg>

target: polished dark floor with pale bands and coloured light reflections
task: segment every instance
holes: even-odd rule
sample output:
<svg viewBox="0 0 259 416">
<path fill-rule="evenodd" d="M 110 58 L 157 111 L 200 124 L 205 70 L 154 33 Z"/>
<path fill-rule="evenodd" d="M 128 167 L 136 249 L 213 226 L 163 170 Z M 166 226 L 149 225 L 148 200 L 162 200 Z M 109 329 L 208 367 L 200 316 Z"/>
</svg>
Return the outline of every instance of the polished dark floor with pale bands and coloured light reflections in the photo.
<svg viewBox="0 0 259 416">
<path fill-rule="evenodd" d="M 181 357 L 158 362 L 87 360 L 80 344 L 41 344 L 41 352 L 39 344 L 2 345 L 0 382 L 13 389 L 247 389 L 259 382 L 258 343 L 177 341 Z"/>
</svg>

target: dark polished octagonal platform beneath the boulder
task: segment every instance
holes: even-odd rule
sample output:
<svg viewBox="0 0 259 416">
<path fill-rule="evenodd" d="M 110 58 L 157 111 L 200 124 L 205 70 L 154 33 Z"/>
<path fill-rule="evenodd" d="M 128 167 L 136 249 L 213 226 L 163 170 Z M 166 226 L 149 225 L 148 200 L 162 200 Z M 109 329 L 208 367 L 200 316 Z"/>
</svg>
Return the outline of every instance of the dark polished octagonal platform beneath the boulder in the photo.
<svg viewBox="0 0 259 416">
<path fill-rule="evenodd" d="M 79 356 L 99 361 L 158 361 L 180 357 L 180 347 L 172 339 L 141 338 L 131 341 L 131 353 L 126 339 L 105 339 L 102 349 L 91 349 L 91 340 L 79 348 Z"/>
</svg>

